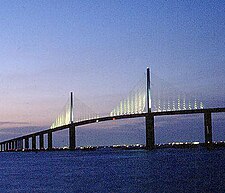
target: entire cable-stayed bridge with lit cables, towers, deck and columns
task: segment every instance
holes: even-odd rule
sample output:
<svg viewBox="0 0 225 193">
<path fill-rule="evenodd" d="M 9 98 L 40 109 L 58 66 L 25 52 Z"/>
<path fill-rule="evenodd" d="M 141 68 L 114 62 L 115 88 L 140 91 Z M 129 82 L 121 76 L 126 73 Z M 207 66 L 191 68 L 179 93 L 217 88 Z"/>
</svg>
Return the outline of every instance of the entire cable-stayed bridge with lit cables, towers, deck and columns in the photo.
<svg viewBox="0 0 225 193">
<path fill-rule="evenodd" d="M 155 147 L 154 117 L 180 114 L 204 114 L 205 143 L 212 143 L 212 113 L 225 112 L 225 108 L 204 108 L 203 102 L 191 95 L 178 91 L 169 84 L 152 75 L 147 68 L 146 78 L 138 82 L 127 97 L 108 114 L 99 115 L 71 93 L 62 112 L 49 129 L 0 142 L 1 151 L 37 150 L 37 136 L 39 148 L 44 149 L 44 135 L 48 138 L 48 150 L 52 150 L 52 133 L 69 129 L 69 148 L 76 148 L 75 129 L 81 125 L 96 122 L 145 117 L 146 122 L 146 148 Z M 31 144 L 29 139 L 32 139 Z"/>
</svg>

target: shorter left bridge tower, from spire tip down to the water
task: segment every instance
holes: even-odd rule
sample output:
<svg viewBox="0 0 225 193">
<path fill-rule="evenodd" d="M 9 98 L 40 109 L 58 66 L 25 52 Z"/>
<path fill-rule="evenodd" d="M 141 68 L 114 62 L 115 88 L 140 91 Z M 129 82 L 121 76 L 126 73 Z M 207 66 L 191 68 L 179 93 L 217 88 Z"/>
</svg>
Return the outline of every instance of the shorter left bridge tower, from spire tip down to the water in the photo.
<svg viewBox="0 0 225 193">
<path fill-rule="evenodd" d="M 69 149 L 75 149 L 76 136 L 75 136 L 75 124 L 73 122 L 73 92 L 70 93 L 70 127 L 69 127 Z"/>
</svg>

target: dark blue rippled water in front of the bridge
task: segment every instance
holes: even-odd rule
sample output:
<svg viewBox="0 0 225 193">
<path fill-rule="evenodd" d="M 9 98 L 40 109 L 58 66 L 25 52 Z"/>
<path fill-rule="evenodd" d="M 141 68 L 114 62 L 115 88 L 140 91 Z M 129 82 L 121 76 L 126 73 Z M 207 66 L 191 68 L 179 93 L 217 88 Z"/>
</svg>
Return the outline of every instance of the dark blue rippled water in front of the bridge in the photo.
<svg viewBox="0 0 225 193">
<path fill-rule="evenodd" d="M 0 192 L 225 192 L 225 149 L 0 153 Z"/>
</svg>

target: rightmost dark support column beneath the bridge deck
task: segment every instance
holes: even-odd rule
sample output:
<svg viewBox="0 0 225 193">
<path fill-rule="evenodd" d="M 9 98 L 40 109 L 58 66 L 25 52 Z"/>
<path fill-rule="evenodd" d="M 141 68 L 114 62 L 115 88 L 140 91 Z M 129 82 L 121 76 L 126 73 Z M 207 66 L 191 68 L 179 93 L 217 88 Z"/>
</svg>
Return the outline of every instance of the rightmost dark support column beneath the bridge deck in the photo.
<svg viewBox="0 0 225 193">
<path fill-rule="evenodd" d="M 212 114 L 211 112 L 204 113 L 205 123 L 205 144 L 212 144 Z"/>
</svg>

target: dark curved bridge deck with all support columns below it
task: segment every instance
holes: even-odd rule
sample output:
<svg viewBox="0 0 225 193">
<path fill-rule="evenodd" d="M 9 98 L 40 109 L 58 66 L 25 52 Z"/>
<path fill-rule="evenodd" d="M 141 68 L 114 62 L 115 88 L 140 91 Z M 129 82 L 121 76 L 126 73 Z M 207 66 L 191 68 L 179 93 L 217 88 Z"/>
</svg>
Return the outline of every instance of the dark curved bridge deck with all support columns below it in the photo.
<svg viewBox="0 0 225 193">
<path fill-rule="evenodd" d="M 209 108 L 209 109 L 193 109 L 193 110 L 177 110 L 177 111 L 162 111 L 162 112 L 150 112 L 150 113 L 140 113 L 140 114 L 129 114 L 129 115 L 118 115 L 118 116 L 107 116 L 94 118 L 90 120 L 84 120 L 80 122 L 70 123 L 68 125 L 63 125 L 56 127 L 54 129 L 46 129 L 43 131 L 31 133 L 21 137 L 16 137 L 10 140 L 0 142 L 0 151 L 8 150 L 21 150 L 23 149 L 23 140 L 25 140 L 25 148 L 29 149 L 29 138 L 32 138 L 32 150 L 36 150 L 36 137 L 39 136 L 40 149 L 44 149 L 44 135 L 48 135 L 48 149 L 52 149 L 52 133 L 64 129 L 69 129 L 69 147 L 74 149 L 76 147 L 75 143 L 75 127 L 98 123 L 103 121 L 112 121 L 119 119 L 131 119 L 138 117 L 146 118 L 146 147 L 152 149 L 155 146 L 155 136 L 154 136 L 154 117 L 156 116 L 169 116 L 169 115 L 184 115 L 184 114 L 204 114 L 204 124 L 205 124 L 205 143 L 212 143 L 212 113 L 225 112 L 225 108 Z M 151 119 L 148 121 L 148 119 Z M 20 142 L 20 143 L 19 143 Z M 18 144 L 19 143 L 19 144 Z"/>
</svg>

